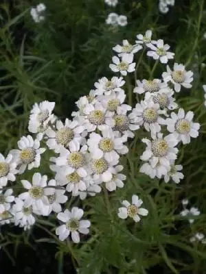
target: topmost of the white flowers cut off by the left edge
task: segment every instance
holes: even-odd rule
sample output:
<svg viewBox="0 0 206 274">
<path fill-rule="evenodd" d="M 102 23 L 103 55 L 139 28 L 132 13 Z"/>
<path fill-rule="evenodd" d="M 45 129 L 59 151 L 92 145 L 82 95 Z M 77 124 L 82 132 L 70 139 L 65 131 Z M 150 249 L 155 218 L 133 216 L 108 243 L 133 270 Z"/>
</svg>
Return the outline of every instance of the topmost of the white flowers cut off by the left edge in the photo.
<svg viewBox="0 0 206 274">
<path fill-rule="evenodd" d="M 13 155 L 8 154 L 7 158 L 0 153 L 0 188 L 6 186 L 8 181 L 14 182 L 14 176 L 19 171 L 16 170 L 16 162 L 13 162 Z"/>
</svg>

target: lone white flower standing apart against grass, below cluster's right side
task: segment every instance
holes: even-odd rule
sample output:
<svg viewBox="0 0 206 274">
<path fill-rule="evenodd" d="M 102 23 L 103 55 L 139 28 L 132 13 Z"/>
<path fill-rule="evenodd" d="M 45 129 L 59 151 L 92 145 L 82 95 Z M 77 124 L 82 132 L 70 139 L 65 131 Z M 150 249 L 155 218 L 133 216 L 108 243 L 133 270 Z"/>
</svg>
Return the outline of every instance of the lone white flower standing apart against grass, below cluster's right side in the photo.
<svg viewBox="0 0 206 274">
<path fill-rule="evenodd" d="M 147 216 L 148 210 L 145 208 L 140 208 L 143 201 L 139 199 L 137 195 L 133 195 L 132 197 L 132 204 L 130 204 L 128 201 L 124 200 L 122 201 L 122 205 L 124 207 L 119 208 L 118 210 L 118 216 L 120 219 L 126 219 L 128 216 L 132 218 L 135 222 L 140 221 L 141 216 Z"/>
</svg>

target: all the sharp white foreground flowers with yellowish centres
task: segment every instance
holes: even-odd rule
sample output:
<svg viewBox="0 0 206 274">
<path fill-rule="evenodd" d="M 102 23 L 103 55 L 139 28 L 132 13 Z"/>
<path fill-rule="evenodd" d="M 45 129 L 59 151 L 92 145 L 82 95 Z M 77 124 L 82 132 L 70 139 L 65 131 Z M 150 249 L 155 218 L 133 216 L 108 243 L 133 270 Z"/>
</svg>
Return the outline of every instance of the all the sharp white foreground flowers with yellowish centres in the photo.
<svg viewBox="0 0 206 274">
<path fill-rule="evenodd" d="M 71 114 L 71 120 L 60 121 L 54 115 L 54 102 L 33 105 L 28 125 L 33 136 L 21 137 L 19 149 L 10 151 L 6 158 L 0 155 L 1 223 L 12 222 L 29 229 L 38 216 L 56 214 L 61 222 L 56 228 L 59 239 L 65 240 L 71 234 L 73 242 L 79 242 L 80 234 L 89 233 L 91 223 L 81 220 L 81 208 L 68 210 L 67 201 L 71 197 L 84 200 L 98 195 L 102 188 L 106 192 L 123 188 L 126 175 L 122 173 L 121 158 L 128 153 L 130 140 L 139 130 L 146 135 L 142 139 L 146 150 L 140 156 L 144 161 L 140 171 L 151 178 L 164 178 L 166 183 L 172 179 L 178 184 L 183 179 L 183 166 L 175 164 L 177 145 L 196 138 L 200 125 L 193 123 L 193 112 L 185 113 L 179 108 L 174 97 L 175 92 L 191 87 L 191 71 L 185 71 L 182 64 L 174 64 L 173 70 L 167 67 L 161 79 L 152 78 L 158 62 L 166 64 L 174 58 L 168 49 L 170 46 L 163 40 L 152 40 L 150 30 L 145 35 L 138 34 L 135 45 L 123 40 L 113 47 L 115 56 L 109 67 L 119 75 L 95 82 L 89 95 L 76 102 L 78 110 Z M 139 51 L 147 51 L 148 57 L 156 60 L 149 79 L 137 79 L 135 55 Z M 124 77 L 130 73 L 135 73 L 137 80 L 135 88 L 130 86 L 127 90 Z M 137 103 L 133 108 L 135 95 Z M 126 103 L 126 96 L 132 98 L 131 105 Z M 173 112 L 177 108 L 178 112 Z M 34 173 L 32 182 L 21 180 L 22 191 L 14 197 L 16 174 L 38 168 L 47 150 L 49 155 L 53 153 L 49 167 L 54 178 L 48 180 L 47 175 Z M 8 184 L 11 187 L 4 190 Z M 122 201 L 124 207 L 117 212 L 119 218 L 129 216 L 140 221 L 139 215 L 148 215 L 148 210 L 140 208 L 142 203 L 137 195 L 133 195 L 132 204 Z"/>
</svg>

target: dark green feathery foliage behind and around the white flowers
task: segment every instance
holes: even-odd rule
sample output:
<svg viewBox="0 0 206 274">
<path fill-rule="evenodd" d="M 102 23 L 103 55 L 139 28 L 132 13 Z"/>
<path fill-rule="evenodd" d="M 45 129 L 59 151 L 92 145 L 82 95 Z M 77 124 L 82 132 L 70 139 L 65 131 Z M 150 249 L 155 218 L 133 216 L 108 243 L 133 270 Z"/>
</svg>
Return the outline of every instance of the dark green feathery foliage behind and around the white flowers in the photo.
<svg viewBox="0 0 206 274">
<path fill-rule="evenodd" d="M 35 102 L 55 101 L 56 115 L 60 119 L 70 117 L 75 101 L 87 95 L 94 82 L 113 75 L 108 69 L 112 48 L 123 39 L 135 42 L 135 36 L 147 29 L 152 29 L 155 39 L 162 38 L 171 46 L 176 62 L 194 71 L 192 90 L 183 90 L 177 99 L 185 110 L 195 112 L 201 134 L 181 149 L 179 162 L 185 174 L 181 186 L 151 182 L 139 174 L 141 151 L 131 151 L 124 159 L 126 187 L 109 196 L 112 208 L 100 196 L 84 202 L 93 223 L 93 236 L 86 238 L 83 245 L 65 246 L 52 238 L 52 221 L 34 227 L 29 234 L 1 227 L 2 273 L 10 269 L 31 274 L 76 273 L 78 264 L 83 274 L 205 273 L 205 247 L 192 247 L 189 242 L 193 232 L 206 234 L 206 115 L 202 88 L 206 84 L 205 1 L 176 0 L 168 14 L 159 13 L 157 0 L 119 0 L 115 8 L 108 7 L 104 0 L 44 3 L 46 20 L 37 24 L 32 21 L 30 8 L 38 1 L 1 1 L 1 153 L 15 148 L 17 140 L 27 134 L 28 115 Z M 128 16 L 128 25 L 106 25 L 110 12 Z M 153 64 L 148 58 L 144 62 Z M 155 77 L 160 77 L 163 70 L 165 67 L 159 66 Z M 148 77 L 143 64 L 138 77 Z M 143 150 L 140 145 L 139 148 Z M 41 171 L 48 169 L 41 166 Z M 143 197 L 150 214 L 144 223 L 131 222 L 126 228 L 124 222 L 117 221 L 115 209 L 122 197 L 130 197 L 135 191 Z M 184 197 L 203 212 L 192 232 L 187 221 L 179 217 Z"/>
</svg>

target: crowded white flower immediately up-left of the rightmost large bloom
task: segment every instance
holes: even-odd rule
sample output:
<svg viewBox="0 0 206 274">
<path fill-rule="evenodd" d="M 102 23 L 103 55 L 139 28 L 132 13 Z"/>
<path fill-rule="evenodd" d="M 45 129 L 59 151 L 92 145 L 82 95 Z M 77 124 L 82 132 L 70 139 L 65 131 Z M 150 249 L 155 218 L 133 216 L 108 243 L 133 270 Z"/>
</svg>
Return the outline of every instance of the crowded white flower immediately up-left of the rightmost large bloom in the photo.
<svg viewBox="0 0 206 274">
<path fill-rule="evenodd" d="M 159 103 L 159 107 L 163 110 L 175 110 L 178 104 L 174 102 L 173 95 L 174 91 L 171 88 L 162 88 L 158 92 L 146 92 L 144 100 Z"/>
</svg>

